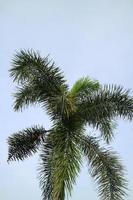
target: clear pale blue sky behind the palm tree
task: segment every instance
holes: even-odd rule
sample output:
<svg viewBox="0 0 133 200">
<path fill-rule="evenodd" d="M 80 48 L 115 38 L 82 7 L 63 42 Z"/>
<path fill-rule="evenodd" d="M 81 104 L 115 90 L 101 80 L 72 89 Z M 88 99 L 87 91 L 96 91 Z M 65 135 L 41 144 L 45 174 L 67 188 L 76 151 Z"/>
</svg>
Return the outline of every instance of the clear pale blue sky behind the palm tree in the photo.
<svg viewBox="0 0 133 200">
<path fill-rule="evenodd" d="M 15 50 L 33 48 L 53 58 L 72 85 L 89 75 L 133 89 L 133 0 L 0 0 L 0 199 L 41 200 L 38 155 L 7 164 L 7 137 L 33 124 L 50 126 L 46 113 L 12 108 L 8 70 Z M 111 144 L 127 169 L 133 199 L 133 123 L 119 121 Z M 71 200 L 98 200 L 86 164 Z"/>
</svg>

